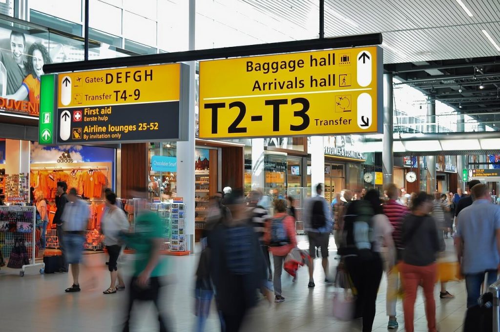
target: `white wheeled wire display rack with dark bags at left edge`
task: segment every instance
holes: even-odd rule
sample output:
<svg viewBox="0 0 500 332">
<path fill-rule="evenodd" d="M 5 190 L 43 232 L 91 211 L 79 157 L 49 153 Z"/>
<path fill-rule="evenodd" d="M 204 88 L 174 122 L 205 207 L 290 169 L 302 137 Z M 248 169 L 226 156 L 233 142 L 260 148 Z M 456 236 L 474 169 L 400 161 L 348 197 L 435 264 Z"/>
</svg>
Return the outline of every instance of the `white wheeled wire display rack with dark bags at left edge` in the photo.
<svg viewBox="0 0 500 332">
<path fill-rule="evenodd" d="M 40 266 L 40 273 L 43 274 L 45 271 L 43 262 L 35 262 L 37 251 L 35 211 L 35 206 L 0 206 L 0 223 L 3 225 L 0 227 L 0 244 L 2 244 L 1 249 L 4 258 L 8 259 L 7 257 L 10 256 L 16 239 L 23 239 L 26 245 L 29 264 L 22 265 L 19 271 L 20 276 L 24 276 L 26 267 Z M 14 224 L 15 229 L 13 228 Z"/>
</svg>

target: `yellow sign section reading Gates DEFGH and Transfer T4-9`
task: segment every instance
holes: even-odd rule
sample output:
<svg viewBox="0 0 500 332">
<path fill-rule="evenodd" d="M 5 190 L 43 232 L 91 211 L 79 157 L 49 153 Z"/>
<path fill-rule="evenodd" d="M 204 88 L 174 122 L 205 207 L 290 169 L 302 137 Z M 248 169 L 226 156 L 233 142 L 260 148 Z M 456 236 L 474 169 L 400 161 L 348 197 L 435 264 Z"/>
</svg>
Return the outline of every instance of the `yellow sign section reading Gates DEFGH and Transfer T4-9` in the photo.
<svg viewBox="0 0 500 332">
<path fill-rule="evenodd" d="M 180 64 L 58 75 L 58 108 L 179 100 Z"/>
</svg>

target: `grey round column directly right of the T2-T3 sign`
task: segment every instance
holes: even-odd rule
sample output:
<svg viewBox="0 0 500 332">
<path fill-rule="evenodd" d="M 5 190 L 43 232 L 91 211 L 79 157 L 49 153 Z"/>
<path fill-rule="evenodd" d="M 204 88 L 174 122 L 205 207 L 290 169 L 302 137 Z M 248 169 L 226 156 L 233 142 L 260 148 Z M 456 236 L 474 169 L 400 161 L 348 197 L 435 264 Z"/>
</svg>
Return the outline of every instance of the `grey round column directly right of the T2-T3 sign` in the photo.
<svg viewBox="0 0 500 332">
<path fill-rule="evenodd" d="M 393 103 L 392 103 L 392 74 L 383 74 L 383 138 L 382 138 L 382 172 L 383 184 L 392 183 L 394 168 L 393 143 Z"/>
</svg>

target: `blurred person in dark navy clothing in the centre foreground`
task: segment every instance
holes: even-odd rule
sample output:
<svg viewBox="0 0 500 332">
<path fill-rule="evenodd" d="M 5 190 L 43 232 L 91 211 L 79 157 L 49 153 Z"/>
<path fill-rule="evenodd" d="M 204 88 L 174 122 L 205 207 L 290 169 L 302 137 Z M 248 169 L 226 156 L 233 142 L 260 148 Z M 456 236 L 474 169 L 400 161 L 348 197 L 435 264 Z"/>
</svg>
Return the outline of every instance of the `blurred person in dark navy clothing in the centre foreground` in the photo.
<svg viewBox="0 0 500 332">
<path fill-rule="evenodd" d="M 226 203 L 231 213 L 215 225 L 207 244 L 210 276 L 222 315 L 221 330 L 237 332 L 256 304 L 256 291 L 266 282 L 267 268 L 242 193 L 233 190 L 226 196 Z"/>
</svg>

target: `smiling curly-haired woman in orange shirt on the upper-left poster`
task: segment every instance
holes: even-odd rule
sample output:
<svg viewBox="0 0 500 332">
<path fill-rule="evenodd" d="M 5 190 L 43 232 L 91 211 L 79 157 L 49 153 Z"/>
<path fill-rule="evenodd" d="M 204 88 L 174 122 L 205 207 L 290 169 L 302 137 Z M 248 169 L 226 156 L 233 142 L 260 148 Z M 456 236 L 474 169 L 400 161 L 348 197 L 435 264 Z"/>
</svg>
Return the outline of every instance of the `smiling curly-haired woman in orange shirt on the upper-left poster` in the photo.
<svg viewBox="0 0 500 332">
<path fill-rule="evenodd" d="M 25 62 L 28 75 L 22 81 L 19 89 L 6 97 L 9 99 L 24 100 L 29 96 L 30 102 L 40 102 L 40 76 L 43 74 L 43 64 L 50 63 L 47 48 L 39 42 L 29 46 L 27 60 Z"/>
</svg>

